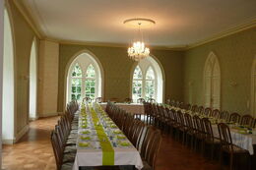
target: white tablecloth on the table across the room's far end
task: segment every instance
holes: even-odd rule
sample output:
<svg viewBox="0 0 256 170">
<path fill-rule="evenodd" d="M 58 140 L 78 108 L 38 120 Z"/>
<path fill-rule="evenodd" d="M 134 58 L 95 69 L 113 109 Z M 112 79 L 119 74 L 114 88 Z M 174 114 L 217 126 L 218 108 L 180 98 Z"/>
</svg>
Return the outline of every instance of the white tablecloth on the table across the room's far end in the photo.
<svg viewBox="0 0 256 170">
<path fill-rule="evenodd" d="M 99 105 L 102 109 L 105 109 L 107 103 L 100 103 Z M 144 114 L 144 106 L 143 104 L 139 103 L 115 103 L 118 107 L 124 109 L 125 111 L 132 113 L 132 114 Z"/>
</svg>

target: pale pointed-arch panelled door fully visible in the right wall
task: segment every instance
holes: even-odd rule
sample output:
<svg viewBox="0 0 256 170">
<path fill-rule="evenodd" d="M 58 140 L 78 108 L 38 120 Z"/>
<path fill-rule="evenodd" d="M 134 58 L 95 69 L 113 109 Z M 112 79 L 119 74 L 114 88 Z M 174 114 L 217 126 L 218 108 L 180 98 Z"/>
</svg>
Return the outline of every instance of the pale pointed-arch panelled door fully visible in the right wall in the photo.
<svg viewBox="0 0 256 170">
<path fill-rule="evenodd" d="M 221 67 L 214 52 L 208 55 L 204 68 L 205 107 L 221 108 Z"/>
</svg>

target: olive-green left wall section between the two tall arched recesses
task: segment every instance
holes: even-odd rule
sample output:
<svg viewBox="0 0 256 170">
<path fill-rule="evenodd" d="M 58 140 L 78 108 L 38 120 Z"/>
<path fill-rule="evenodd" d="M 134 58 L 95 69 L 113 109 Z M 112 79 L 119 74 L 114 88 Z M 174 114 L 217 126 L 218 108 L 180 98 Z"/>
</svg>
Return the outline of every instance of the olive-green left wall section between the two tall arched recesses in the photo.
<svg viewBox="0 0 256 170">
<path fill-rule="evenodd" d="M 21 136 L 21 132 L 29 123 L 30 55 L 32 40 L 36 36 L 13 1 L 6 2 L 10 7 L 8 11 L 14 35 L 15 134 L 17 137 Z"/>
</svg>

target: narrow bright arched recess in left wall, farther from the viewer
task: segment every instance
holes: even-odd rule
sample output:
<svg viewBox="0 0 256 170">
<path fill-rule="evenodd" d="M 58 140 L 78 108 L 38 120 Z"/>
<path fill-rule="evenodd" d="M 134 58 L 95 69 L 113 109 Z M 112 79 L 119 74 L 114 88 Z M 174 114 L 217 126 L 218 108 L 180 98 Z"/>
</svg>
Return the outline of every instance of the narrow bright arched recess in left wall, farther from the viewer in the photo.
<svg viewBox="0 0 256 170">
<path fill-rule="evenodd" d="M 37 118 L 36 115 L 36 101 L 37 101 L 37 52 L 36 40 L 32 41 L 31 60 L 30 60 L 30 119 Z"/>
</svg>

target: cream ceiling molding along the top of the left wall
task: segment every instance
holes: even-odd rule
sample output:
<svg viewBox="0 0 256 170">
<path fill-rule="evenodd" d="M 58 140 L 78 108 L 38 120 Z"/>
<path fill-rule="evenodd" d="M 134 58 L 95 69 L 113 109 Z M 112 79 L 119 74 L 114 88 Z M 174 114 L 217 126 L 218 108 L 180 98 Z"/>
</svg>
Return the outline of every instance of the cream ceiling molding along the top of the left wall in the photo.
<svg viewBox="0 0 256 170">
<path fill-rule="evenodd" d="M 7 1 L 6 1 L 7 2 Z M 36 25 L 34 24 L 31 15 L 29 14 L 29 12 L 27 11 L 27 9 L 25 8 L 24 4 L 21 2 L 21 0 L 13 0 L 15 6 L 17 7 L 17 9 L 19 10 L 19 12 L 22 14 L 22 16 L 24 17 L 24 19 L 26 20 L 26 22 L 29 24 L 29 26 L 32 28 L 32 30 L 34 31 L 34 33 L 38 36 L 38 38 L 43 38 L 44 33 L 42 33 L 42 31 L 40 31 L 40 29 L 38 27 L 36 27 Z"/>
</svg>

